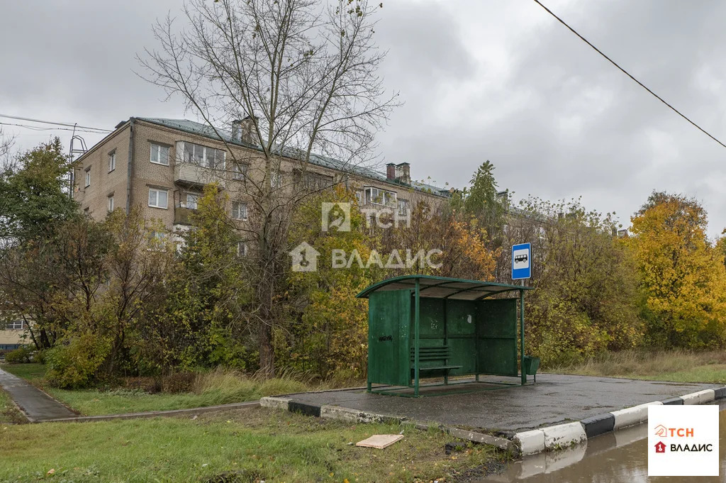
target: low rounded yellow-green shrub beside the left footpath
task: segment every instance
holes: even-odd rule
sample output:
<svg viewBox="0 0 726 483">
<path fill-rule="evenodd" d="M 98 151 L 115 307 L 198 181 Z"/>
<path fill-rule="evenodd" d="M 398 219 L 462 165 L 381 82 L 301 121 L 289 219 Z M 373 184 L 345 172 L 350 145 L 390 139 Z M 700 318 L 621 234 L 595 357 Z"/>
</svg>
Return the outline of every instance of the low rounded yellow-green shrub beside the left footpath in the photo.
<svg viewBox="0 0 726 483">
<path fill-rule="evenodd" d="M 82 334 L 49 349 L 46 378 L 52 386 L 78 389 L 89 386 L 108 357 L 111 344 L 93 333 Z"/>
</svg>

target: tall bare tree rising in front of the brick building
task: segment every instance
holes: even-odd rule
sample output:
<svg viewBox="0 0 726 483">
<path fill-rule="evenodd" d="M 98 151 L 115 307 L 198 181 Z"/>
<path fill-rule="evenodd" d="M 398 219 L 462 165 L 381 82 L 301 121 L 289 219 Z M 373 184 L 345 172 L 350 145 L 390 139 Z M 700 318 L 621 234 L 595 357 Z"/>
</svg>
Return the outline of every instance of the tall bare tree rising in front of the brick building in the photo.
<svg viewBox="0 0 726 483">
<path fill-rule="evenodd" d="M 144 78 L 181 94 L 222 140 L 214 126 L 250 123 L 254 149 L 228 146 L 228 163 L 244 163 L 248 174 L 227 189 L 241 190 L 252 207 L 250 221 L 237 228 L 255 245 L 248 261 L 256 301 L 245 317 L 256 325 L 266 376 L 274 376 L 272 338 L 285 317 L 295 207 L 346 179 L 333 176 L 311 190 L 309 164 L 333 163 L 345 173 L 370 162 L 375 132 L 398 103 L 377 75 L 385 57 L 373 41 L 380 7 L 366 0 L 188 0 L 185 30 L 167 17 L 154 28 L 160 49 L 139 59 Z M 283 175 L 290 165 L 295 176 Z"/>
</svg>

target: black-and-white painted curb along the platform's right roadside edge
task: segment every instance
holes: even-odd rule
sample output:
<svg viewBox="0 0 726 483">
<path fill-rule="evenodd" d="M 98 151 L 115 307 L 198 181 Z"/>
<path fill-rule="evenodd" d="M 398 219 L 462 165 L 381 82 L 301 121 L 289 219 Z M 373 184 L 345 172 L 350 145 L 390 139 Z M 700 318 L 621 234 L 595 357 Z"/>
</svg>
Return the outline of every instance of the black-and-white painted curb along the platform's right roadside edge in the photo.
<svg viewBox="0 0 726 483">
<path fill-rule="evenodd" d="M 522 455 L 533 455 L 542 451 L 560 450 L 570 445 L 605 434 L 617 429 L 634 426 L 648 421 L 648 406 L 652 405 L 696 405 L 706 404 L 726 397 L 726 387 L 703 389 L 664 401 L 653 401 L 625 409 L 585 418 L 574 423 L 558 424 L 547 428 L 517 433 L 514 444 Z"/>
</svg>

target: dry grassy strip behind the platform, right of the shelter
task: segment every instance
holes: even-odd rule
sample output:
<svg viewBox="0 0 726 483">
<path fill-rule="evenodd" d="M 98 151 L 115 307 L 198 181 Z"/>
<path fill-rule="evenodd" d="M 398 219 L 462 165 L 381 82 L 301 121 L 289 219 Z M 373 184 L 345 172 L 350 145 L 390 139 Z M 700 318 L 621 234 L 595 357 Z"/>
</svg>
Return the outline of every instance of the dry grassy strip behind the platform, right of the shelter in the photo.
<svg viewBox="0 0 726 483">
<path fill-rule="evenodd" d="M 726 383 L 726 352 L 611 352 L 550 372 L 652 381 Z"/>
</svg>

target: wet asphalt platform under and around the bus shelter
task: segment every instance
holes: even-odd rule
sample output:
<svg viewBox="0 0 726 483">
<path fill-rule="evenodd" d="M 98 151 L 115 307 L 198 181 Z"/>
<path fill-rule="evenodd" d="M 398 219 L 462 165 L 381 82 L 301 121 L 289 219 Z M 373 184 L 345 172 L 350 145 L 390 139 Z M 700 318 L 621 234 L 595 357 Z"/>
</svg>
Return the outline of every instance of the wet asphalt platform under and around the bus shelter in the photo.
<svg viewBox="0 0 726 483">
<path fill-rule="evenodd" d="M 481 381 L 486 381 L 486 378 L 481 378 Z M 514 379 L 507 381 L 513 382 Z M 446 388 L 447 392 L 462 391 L 460 394 L 418 398 L 368 394 L 365 389 L 308 392 L 285 397 L 303 406 L 339 406 L 406 418 L 417 423 L 443 424 L 512 437 L 529 429 L 581 421 L 624 407 L 714 388 L 714 384 L 706 383 L 538 374 L 536 384 L 463 392 L 482 386 L 492 387 L 486 383 L 471 382 Z M 441 387 L 424 388 L 422 394 L 428 391 L 441 391 Z"/>
</svg>

